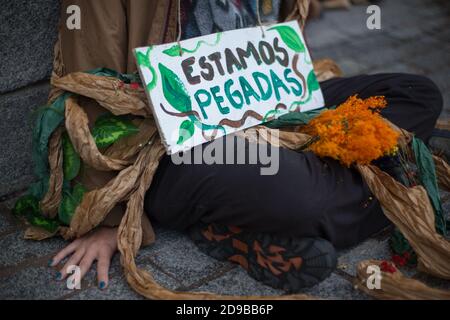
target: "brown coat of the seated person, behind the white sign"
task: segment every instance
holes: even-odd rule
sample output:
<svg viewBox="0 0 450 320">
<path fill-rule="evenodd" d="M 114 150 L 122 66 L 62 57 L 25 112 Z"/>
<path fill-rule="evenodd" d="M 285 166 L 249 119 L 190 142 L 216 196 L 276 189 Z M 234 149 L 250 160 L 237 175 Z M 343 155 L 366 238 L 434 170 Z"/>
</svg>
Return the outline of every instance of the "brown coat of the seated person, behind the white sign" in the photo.
<svg viewBox="0 0 450 320">
<path fill-rule="evenodd" d="M 81 9 L 81 29 L 66 27 L 67 7 Z M 292 11 L 293 0 L 286 0 L 282 12 Z M 149 44 L 175 41 L 177 33 L 177 0 L 63 0 L 60 18 L 59 61 L 54 77 L 77 71 L 106 67 L 121 73 L 133 73 L 136 65 L 132 50 Z M 92 99 L 81 99 L 80 105 L 92 125 L 105 109 Z M 117 175 L 115 171 L 99 171 L 83 167 L 76 178 L 88 190 L 104 186 Z M 104 226 L 117 226 L 124 204 L 115 206 Z M 154 241 L 151 224 L 144 214 L 143 245 Z"/>
</svg>

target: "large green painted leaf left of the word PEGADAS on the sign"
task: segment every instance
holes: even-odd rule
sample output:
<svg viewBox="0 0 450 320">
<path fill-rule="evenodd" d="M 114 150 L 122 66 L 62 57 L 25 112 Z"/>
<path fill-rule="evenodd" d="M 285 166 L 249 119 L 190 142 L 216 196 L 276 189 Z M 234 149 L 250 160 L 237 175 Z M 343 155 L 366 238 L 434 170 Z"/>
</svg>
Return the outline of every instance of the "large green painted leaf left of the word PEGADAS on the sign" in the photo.
<svg viewBox="0 0 450 320">
<path fill-rule="evenodd" d="M 159 72 L 161 73 L 161 82 L 164 97 L 167 102 L 180 112 L 190 111 L 192 108 L 191 98 L 180 78 L 169 68 L 163 64 L 159 64 Z"/>
</svg>

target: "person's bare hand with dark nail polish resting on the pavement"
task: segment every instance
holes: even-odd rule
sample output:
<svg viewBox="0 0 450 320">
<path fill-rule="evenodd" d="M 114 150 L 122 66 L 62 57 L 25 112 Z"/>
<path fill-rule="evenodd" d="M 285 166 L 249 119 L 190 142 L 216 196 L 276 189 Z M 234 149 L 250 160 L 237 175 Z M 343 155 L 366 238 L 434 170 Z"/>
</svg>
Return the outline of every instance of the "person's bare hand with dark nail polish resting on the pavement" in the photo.
<svg viewBox="0 0 450 320">
<path fill-rule="evenodd" d="M 59 251 L 50 261 L 50 266 L 58 265 L 64 258 L 70 256 L 64 267 L 57 273 L 57 280 L 67 277 L 70 265 L 80 267 L 81 279 L 86 275 L 94 261 L 97 261 L 97 281 L 100 289 L 108 286 L 109 265 L 117 251 L 117 228 L 100 227 L 85 236 L 74 240 Z M 80 279 L 80 280 L 81 280 Z"/>
</svg>

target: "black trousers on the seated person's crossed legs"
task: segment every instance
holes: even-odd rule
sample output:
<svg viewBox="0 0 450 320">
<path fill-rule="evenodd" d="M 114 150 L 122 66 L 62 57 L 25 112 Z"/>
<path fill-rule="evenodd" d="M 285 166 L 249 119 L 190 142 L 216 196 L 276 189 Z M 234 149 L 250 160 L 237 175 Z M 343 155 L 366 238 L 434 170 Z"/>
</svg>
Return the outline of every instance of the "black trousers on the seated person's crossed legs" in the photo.
<svg viewBox="0 0 450 320">
<path fill-rule="evenodd" d="M 328 80 L 321 88 L 327 106 L 353 94 L 384 95 L 383 116 L 425 141 L 443 104 L 436 85 L 417 75 L 361 75 Z M 322 237 L 337 248 L 355 245 L 389 224 L 358 172 L 337 161 L 280 148 L 277 174 L 261 175 L 261 166 L 176 165 L 165 156 L 146 194 L 145 210 L 151 221 L 174 229 L 198 221 L 219 223 Z"/>
</svg>

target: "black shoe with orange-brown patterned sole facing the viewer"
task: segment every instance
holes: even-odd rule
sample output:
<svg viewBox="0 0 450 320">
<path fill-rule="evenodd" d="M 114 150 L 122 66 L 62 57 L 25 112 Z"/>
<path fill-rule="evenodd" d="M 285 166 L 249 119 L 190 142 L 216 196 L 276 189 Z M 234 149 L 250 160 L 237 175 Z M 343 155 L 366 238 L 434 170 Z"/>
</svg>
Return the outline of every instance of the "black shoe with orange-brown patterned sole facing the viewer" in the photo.
<svg viewBox="0 0 450 320">
<path fill-rule="evenodd" d="M 287 292 L 312 287 L 336 268 L 336 251 L 321 238 L 283 238 L 216 224 L 198 224 L 190 235 L 204 253 L 238 263 L 254 279 Z"/>
</svg>

